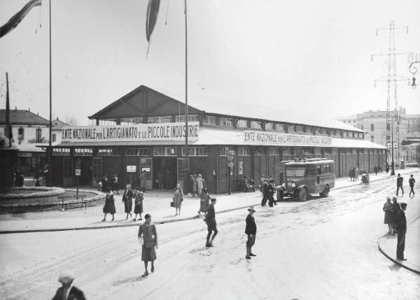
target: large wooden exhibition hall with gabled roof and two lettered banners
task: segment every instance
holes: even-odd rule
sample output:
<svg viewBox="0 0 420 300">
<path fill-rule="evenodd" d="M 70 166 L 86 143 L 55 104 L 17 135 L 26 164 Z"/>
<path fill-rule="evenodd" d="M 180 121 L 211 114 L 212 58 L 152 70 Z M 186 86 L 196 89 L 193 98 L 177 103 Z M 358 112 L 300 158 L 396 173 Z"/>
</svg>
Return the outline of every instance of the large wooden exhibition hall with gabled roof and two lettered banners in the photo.
<svg viewBox="0 0 420 300">
<path fill-rule="evenodd" d="M 307 118 L 279 117 L 276 110 L 244 108 L 239 115 L 235 109 L 188 106 L 186 127 L 184 108 L 141 86 L 90 116 L 96 125 L 64 128 L 62 143 L 53 148 L 55 185 L 74 185 L 78 166 L 81 185 L 117 174 L 136 186 L 144 172 L 148 190 L 172 190 L 176 183 L 188 190 L 188 174 L 200 173 L 211 193 L 224 193 L 238 190 L 244 176 L 272 175 L 280 183 L 284 160 L 328 157 L 335 160 L 337 177 L 347 176 L 351 166 L 373 171 L 384 165 L 384 147 L 336 120 L 316 117 L 310 124 Z"/>
</svg>

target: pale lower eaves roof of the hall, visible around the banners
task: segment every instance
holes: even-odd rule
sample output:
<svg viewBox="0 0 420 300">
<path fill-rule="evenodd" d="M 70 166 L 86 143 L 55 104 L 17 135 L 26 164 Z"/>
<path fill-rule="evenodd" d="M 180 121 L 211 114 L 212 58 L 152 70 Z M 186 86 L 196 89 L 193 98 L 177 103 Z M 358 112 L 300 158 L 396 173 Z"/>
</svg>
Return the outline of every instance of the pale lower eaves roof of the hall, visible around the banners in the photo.
<svg viewBox="0 0 420 300">
<path fill-rule="evenodd" d="M 57 147 L 113 147 L 113 146 L 146 146 L 146 145 L 185 145 L 185 141 L 138 141 L 138 142 L 62 142 Z M 197 141 L 189 141 L 188 145 L 245 145 L 244 130 L 219 129 L 201 127 Z M 261 145 L 246 143 L 246 145 Z M 367 140 L 350 138 L 332 138 L 330 148 L 374 148 L 386 149 Z"/>
</svg>

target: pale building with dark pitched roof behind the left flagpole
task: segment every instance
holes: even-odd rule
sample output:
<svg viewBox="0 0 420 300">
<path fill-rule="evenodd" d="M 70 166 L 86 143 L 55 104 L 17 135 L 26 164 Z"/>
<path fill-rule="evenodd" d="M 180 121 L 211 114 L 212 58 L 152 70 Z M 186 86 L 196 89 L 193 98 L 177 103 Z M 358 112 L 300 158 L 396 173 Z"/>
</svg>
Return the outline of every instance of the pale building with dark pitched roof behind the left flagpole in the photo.
<svg viewBox="0 0 420 300">
<path fill-rule="evenodd" d="M 30 110 L 10 110 L 14 145 L 18 148 L 18 169 L 31 176 L 46 163 L 50 121 Z M 52 142 L 61 141 L 62 128 L 67 126 L 58 118 L 52 121 Z M 0 110 L 0 130 L 6 129 L 6 110 Z"/>
</svg>

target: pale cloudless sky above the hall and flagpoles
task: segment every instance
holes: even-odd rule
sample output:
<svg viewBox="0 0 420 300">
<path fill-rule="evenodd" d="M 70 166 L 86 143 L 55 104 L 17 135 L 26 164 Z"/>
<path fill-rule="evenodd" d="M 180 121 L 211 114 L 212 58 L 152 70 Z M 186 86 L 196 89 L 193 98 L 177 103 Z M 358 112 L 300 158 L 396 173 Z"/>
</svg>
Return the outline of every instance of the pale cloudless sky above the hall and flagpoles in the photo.
<svg viewBox="0 0 420 300">
<path fill-rule="evenodd" d="M 28 0 L 0 0 L 0 24 Z M 51 0 L 52 115 L 89 124 L 140 85 L 185 99 L 183 0 L 162 0 L 146 51 L 146 0 Z M 385 110 L 391 20 L 399 76 L 420 60 L 420 1 L 187 0 L 188 104 L 253 106 L 342 117 Z M 40 27 L 41 24 L 41 27 Z M 49 116 L 48 0 L 0 38 L 0 107 Z M 408 33 L 405 26 L 409 27 Z M 412 53 L 412 54 L 409 54 Z M 420 83 L 420 71 L 417 73 Z M 398 84 L 420 113 L 420 87 Z M 239 104 L 239 105 L 238 105 Z M 392 104 L 393 106 L 393 104 Z"/>
</svg>

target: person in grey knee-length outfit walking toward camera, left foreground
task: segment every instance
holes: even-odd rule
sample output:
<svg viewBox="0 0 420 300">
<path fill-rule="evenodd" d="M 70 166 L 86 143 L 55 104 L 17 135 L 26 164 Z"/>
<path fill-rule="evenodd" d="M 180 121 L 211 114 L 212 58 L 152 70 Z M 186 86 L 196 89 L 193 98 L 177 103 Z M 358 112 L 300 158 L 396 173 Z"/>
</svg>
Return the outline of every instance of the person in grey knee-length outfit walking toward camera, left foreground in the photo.
<svg viewBox="0 0 420 300">
<path fill-rule="evenodd" d="M 140 225 L 139 234 L 137 235 L 141 242 L 141 260 L 144 261 L 144 269 L 146 270 L 142 277 L 148 276 L 147 265 L 152 262 L 151 271 L 155 271 L 156 251 L 158 249 L 158 233 L 155 224 L 152 223 L 152 216 L 148 213 L 144 216 L 146 221 Z"/>
</svg>

